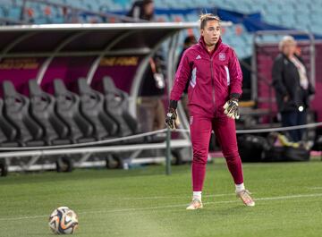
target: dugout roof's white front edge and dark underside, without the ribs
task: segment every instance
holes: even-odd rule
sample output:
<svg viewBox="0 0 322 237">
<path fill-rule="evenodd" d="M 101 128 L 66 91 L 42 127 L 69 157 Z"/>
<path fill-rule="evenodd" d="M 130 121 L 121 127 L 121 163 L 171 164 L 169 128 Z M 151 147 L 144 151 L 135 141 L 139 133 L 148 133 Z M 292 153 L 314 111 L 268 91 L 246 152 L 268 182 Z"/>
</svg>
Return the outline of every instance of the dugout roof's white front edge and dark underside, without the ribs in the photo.
<svg viewBox="0 0 322 237">
<path fill-rule="evenodd" d="M 33 56 L 51 55 L 62 44 L 61 54 L 57 55 L 64 55 L 64 52 L 100 54 L 108 46 L 111 46 L 111 51 L 147 49 L 179 30 L 196 27 L 197 22 L 9 26 L 0 28 L 0 50 L 2 57 L 21 57 L 28 53 Z"/>
</svg>

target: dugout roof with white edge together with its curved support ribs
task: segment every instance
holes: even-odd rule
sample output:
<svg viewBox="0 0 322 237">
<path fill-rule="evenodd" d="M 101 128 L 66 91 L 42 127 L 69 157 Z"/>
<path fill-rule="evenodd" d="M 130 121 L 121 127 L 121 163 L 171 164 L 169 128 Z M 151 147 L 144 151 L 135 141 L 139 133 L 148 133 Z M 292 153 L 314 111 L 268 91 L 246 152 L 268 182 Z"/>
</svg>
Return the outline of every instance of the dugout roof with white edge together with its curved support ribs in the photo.
<svg viewBox="0 0 322 237">
<path fill-rule="evenodd" d="M 222 25 L 229 26 L 231 23 L 222 22 Z M 166 76 L 168 83 L 171 83 L 178 33 L 198 27 L 198 21 L 4 26 L 0 28 L 0 60 L 14 57 L 47 58 L 38 70 L 36 79 L 40 84 L 54 58 L 94 56 L 97 59 L 90 65 L 87 76 L 91 83 L 104 56 L 142 55 L 144 60 L 135 73 L 130 91 L 132 101 L 135 101 L 142 74 L 148 66 L 148 58 L 166 39 L 171 39 Z M 133 115 L 136 114 L 134 104 L 130 105 Z"/>
</svg>

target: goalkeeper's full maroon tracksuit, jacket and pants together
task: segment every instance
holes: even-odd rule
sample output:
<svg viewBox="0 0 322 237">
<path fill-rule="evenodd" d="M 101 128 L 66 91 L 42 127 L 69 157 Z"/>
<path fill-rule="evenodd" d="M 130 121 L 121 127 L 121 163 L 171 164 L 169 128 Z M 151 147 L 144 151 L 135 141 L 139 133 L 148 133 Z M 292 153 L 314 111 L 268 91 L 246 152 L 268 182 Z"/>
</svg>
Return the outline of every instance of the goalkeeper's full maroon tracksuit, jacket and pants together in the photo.
<svg viewBox="0 0 322 237">
<path fill-rule="evenodd" d="M 215 50 L 208 53 L 201 37 L 198 44 L 188 48 L 182 55 L 171 100 L 180 99 L 188 80 L 193 190 L 202 190 L 203 187 L 212 130 L 221 144 L 234 182 L 242 183 L 242 162 L 238 154 L 235 123 L 224 114 L 223 108 L 231 94 L 242 94 L 242 70 L 233 49 L 222 43 L 220 38 Z"/>
</svg>

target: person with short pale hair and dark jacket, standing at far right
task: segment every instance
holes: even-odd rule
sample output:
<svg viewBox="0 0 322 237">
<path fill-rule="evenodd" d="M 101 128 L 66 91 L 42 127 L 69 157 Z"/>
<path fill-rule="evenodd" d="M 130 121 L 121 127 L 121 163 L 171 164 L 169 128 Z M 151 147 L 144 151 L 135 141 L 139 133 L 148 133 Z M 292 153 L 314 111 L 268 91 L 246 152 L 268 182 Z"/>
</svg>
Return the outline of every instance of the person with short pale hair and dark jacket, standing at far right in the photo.
<svg viewBox="0 0 322 237">
<path fill-rule="evenodd" d="M 279 43 L 279 50 L 272 78 L 282 124 L 284 127 L 302 125 L 306 123 L 309 96 L 314 94 L 314 89 L 300 55 L 296 54 L 295 39 L 285 36 Z M 291 130 L 289 135 L 292 141 L 301 141 L 303 130 Z"/>
</svg>

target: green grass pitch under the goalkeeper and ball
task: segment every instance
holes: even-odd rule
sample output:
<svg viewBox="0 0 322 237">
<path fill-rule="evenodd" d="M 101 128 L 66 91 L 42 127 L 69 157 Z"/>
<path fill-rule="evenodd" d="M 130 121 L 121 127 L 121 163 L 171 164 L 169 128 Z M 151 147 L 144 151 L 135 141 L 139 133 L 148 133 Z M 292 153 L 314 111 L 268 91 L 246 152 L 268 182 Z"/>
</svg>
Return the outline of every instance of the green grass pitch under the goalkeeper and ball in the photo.
<svg viewBox="0 0 322 237">
<path fill-rule="evenodd" d="M 256 207 L 233 194 L 223 159 L 208 165 L 204 208 L 186 211 L 191 166 L 10 174 L 0 179 L 0 236 L 53 236 L 55 207 L 79 216 L 75 236 L 322 236 L 322 162 L 244 164 Z"/>
</svg>

